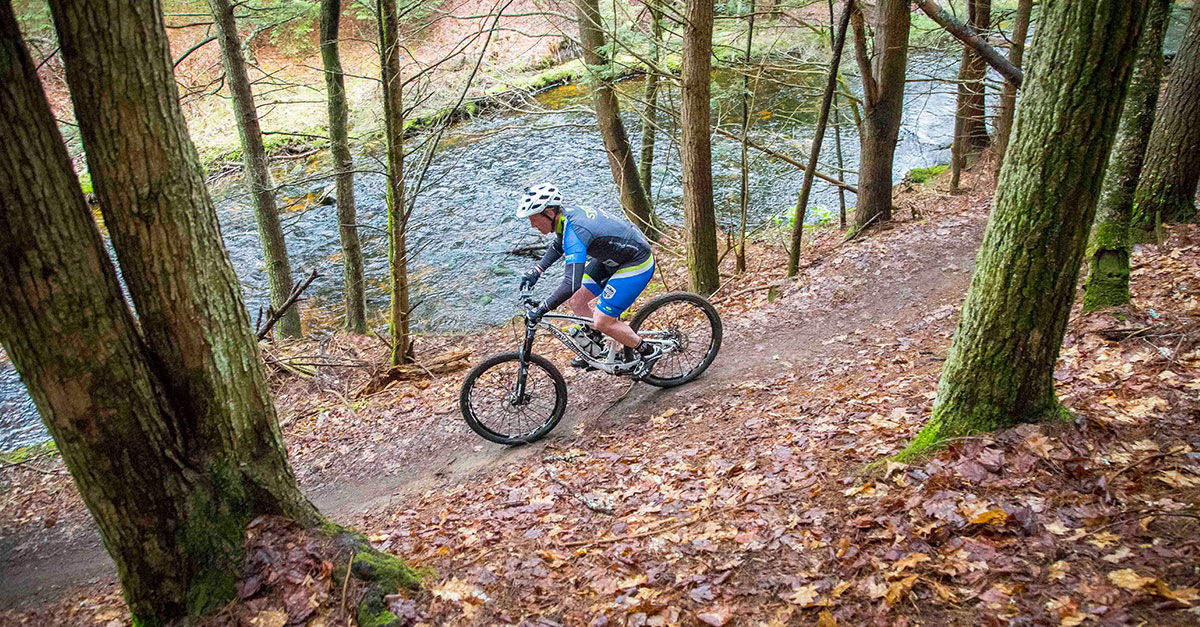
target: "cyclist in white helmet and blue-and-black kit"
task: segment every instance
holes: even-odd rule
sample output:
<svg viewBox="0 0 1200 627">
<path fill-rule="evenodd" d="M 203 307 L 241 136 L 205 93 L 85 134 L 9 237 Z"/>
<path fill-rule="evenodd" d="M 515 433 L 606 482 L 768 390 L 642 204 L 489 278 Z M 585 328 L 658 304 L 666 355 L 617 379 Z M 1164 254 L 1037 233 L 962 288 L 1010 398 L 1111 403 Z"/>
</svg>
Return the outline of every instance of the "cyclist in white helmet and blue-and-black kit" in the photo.
<svg viewBox="0 0 1200 627">
<path fill-rule="evenodd" d="M 541 261 L 522 276 L 521 289 L 533 288 L 542 273 L 559 257 L 566 257 L 563 282 L 530 309 L 526 318 L 536 323 L 547 311 L 568 303 L 575 315 L 590 317 L 596 330 L 634 348 L 637 353 L 634 378 L 644 378 L 662 357 L 662 350 L 641 339 L 620 320 L 654 276 L 654 255 L 642 233 L 605 211 L 563 207 L 558 189 L 547 184 L 526 187 L 516 215 L 528 217 L 529 226 L 544 235 L 551 231 L 558 235 Z M 596 297 L 600 303 L 593 312 L 590 303 Z M 586 368 L 587 362 L 572 359 L 571 365 Z"/>
</svg>

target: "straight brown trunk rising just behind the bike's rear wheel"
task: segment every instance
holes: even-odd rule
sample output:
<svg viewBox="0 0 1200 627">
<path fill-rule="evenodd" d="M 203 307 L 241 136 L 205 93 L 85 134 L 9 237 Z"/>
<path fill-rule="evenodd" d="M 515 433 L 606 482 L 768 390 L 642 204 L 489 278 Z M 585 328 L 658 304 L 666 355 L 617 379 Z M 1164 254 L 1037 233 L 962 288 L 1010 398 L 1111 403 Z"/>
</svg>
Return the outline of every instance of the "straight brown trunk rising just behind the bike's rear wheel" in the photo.
<svg viewBox="0 0 1200 627">
<path fill-rule="evenodd" d="M 716 269 L 716 211 L 713 207 L 713 147 L 709 137 L 713 2 L 686 0 L 683 66 L 679 82 L 679 156 L 683 167 L 683 217 L 688 240 L 691 291 L 712 294 L 720 283 Z"/>
</svg>

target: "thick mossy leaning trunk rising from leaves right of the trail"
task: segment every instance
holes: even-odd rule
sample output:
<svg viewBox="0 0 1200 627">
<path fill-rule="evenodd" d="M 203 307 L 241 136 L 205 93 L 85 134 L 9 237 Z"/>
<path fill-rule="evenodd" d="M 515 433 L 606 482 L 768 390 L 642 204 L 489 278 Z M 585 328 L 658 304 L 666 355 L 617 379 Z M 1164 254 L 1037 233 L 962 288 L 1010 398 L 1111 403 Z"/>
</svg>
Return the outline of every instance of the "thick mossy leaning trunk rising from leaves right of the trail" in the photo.
<svg viewBox="0 0 1200 627">
<path fill-rule="evenodd" d="M 902 458 L 948 437 L 1066 413 L 1054 366 L 1147 1 L 1043 5 L 1014 151 L 934 413 Z"/>
</svg>

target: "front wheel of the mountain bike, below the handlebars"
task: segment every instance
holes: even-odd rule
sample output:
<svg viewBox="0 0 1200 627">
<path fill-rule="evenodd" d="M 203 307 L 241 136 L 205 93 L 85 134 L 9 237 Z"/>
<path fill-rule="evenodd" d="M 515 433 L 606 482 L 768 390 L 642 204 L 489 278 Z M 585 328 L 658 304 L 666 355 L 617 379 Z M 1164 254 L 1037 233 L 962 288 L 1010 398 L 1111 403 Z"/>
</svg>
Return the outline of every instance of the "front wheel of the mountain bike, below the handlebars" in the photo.
<svg viewBox="0 0 1200 627">
<path fill-rule="evenodd" d="M 498 444 L 526 444 L 550 432 L 566 412 L 566 382 L 546 358 L 530 354 L 524 395 L 516 398 L 521 354 L 492 356 L 462 383 L 467 426 Z"/>
</svg>

